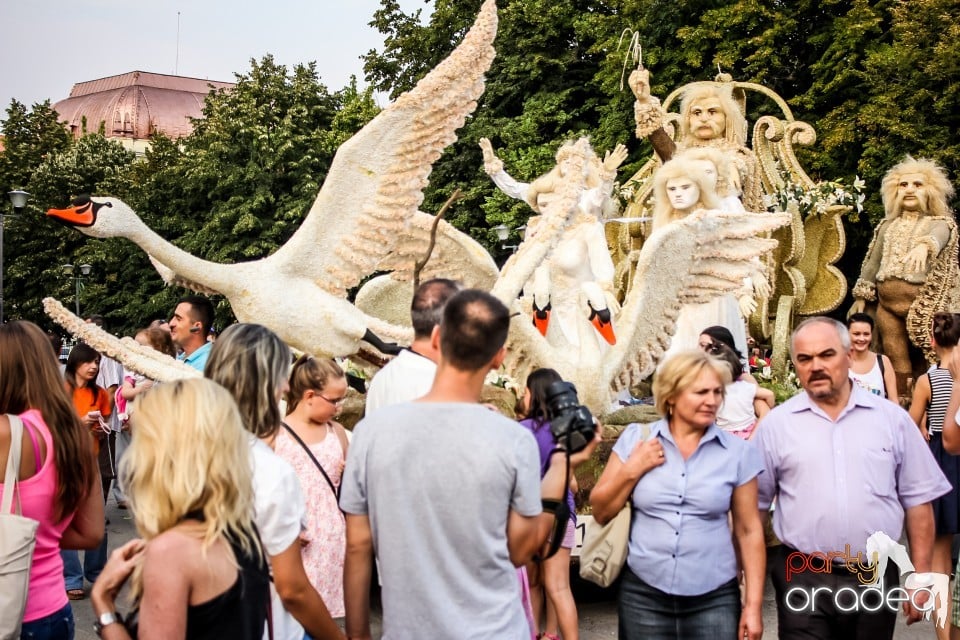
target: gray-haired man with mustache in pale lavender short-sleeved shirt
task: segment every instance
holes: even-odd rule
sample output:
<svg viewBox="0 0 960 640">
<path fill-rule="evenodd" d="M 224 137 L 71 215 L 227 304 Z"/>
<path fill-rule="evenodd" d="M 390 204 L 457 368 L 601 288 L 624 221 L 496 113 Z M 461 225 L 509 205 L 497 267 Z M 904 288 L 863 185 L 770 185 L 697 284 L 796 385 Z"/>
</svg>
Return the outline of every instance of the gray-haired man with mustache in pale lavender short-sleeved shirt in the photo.
<svg viewBox="0 0 960 640">
<path fill-rule="evenodd" d="M 908 624 L 933 603 L 921 592 L 896 597 L 893 564 L 876 576 L 879 594 L 858 601 L 869 593 L 867 539 L 879 531 L 899 540 L 905 524 L 916 571 L 928 572 L 930 502 L 950 483 L 910 416 L 851 384 L 843 324 L 803 321 L 791 351 L 803 392 L 767 414 L 755 440 L 766 467 L 760 508 L 777 499 L 773 529 L 783 542 L 770 563 L 779 637 L 892 638 L 898 602 Z"/>
</svg>

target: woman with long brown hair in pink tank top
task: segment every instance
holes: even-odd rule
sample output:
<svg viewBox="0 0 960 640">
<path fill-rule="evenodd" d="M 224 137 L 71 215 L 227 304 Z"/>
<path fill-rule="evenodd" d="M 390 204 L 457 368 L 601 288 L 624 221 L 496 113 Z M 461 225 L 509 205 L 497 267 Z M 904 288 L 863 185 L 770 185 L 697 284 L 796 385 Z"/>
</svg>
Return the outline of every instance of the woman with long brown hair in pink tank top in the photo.
<svg viewBox="0 0 960 640">
<path fill-rule="evenodd" d="M 91 549 L 100 543 L 103 500 L 90 436 L 63 388 L 57 355 L 30 322 L 0 325 L 0 414 L 19 415 L 23 421 L 17 484 L 23 515 L 40 523 L 22 633 L 72 639 L 60 549 Z M 10 421 L 0 415 L 0 477 L 9 450 Z"/>
</svg>

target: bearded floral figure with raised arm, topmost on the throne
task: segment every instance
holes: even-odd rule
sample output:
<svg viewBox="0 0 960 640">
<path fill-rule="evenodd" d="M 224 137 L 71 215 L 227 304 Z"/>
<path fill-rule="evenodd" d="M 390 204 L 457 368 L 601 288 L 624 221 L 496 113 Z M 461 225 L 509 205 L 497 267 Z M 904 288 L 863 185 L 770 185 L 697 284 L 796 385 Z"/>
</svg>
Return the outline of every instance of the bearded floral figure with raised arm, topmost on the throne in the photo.
<svg viewBox="0 0 960 640">
<path fill-rule="evenodd" d="M 637 137 L 648 138 L 661 162 L 686 149 L 719 149 L 733 164 L 731 191 L 747 211 L 764 211 L 757 158 L 746 146 L 747 120 L 733 97 L 730 83 L 696 82 L 680 102 L 680 139 L 674 142 L 663 128 L 663 108 L 650 95 L 650 72 L 635 69 L 629 78 L 636 97 L 634 119 Z M 724 194 L 726 195 L 726 194 Z"/>
</svg>

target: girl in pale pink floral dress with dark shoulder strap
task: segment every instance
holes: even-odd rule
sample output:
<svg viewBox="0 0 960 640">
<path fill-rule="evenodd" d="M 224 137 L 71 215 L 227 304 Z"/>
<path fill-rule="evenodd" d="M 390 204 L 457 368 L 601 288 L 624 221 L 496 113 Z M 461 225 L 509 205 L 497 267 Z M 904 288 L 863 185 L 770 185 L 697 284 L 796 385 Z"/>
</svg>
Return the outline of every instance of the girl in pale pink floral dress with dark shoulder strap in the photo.
<svg viewBox="0 0 960 640">
<path fill-rule="evenodd" d="M 340 412 L 346 394 L 347 378 L 336 362 L 302 356 L 290 372 L 287 417 L 275 445 L 277 455 L 296 471 L 307 500 L 303 566 L 335 618 L 344 615 L 346 528 L 337 494 L 347 437 L 343 426 L 333 418 Z"/>
</svg>

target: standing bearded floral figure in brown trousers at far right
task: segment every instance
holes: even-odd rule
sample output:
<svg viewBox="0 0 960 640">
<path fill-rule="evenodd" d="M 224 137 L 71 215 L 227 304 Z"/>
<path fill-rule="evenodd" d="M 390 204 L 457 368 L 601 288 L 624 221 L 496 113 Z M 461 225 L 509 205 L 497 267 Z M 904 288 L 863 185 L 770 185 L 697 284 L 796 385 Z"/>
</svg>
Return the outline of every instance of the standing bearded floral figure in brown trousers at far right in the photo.
<svg viewBox="0 0 960 640">
<path fill-rule="evenodd" d="M 850 313 L 876 303 L 883 352 L 897 387 L 907 389 L 932 353 L 933 314 L 956 309 L 957 224 L 947 204 L 954 190 L 939 165 L 910 156 L 887 172 L 881 189 L 886 218 L 873 233 Z"/>
</svg>

